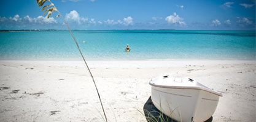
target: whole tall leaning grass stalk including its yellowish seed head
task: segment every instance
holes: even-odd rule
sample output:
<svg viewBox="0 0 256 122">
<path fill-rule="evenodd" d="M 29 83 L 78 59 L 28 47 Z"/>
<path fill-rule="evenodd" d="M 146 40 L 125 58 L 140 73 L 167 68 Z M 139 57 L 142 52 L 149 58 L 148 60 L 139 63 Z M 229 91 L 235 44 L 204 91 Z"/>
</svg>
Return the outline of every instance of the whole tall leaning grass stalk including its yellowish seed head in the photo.
<svg viewBox="0 0 256 122">
<path fill-rule="evenodd" d="M 66 22 L 66 20 L 64 19 L 64 17 L 61 15 L 61 13 L 58 11 L 58 9 L 56 9 L 56 7 L 55 7 L 55 5 L 52 3 L 52 1 L 50 1 L 50 0 L 36 0 L 36 2 L 37 2 L 37 4 L 39 5 L 39 7 L 41 7 L 42 5 L 44 5 L 44 3 L 47 2 L 47 1 L 50 2 L 50 5 L 45 5 L 45 6 L 42 8 L 42 10 L 45 10 L 47 7 L 50 7 L 49 9 L 46 9 L 46 10 L 44 11 L 44 13 L 45 13 L 45 12 L 48 12 L 47 18 L 49 18 L 50 15 L 52 15 L 52 12 L 53 12 L 53 11 L 58 12 L 58 15 L 55 16 L 55 17 L 61 16 L 61 18 L 62 18 L 62 20 L 64 21 L 65 25 L 68 27 L 69 33 L 71 34 L 73 40 L 74 40 L 75 43 L 76 43 L 77 49 L 79 49 L 79 52 L 80 52 L 80 54 L 81 54 L 81 56 L 82 56 L 82 58 L 83 58 L 83 62 L 85 62 L 85 65 L 86 65 L 86 67 L 87 67 L 87 70 L 88 70 L 88 72 L 90 73 L 91 79 L 93 80 L 93 83 L 94 83 L 94 85 L 95 85 L 96 91 L 97 91 L 97 93 L 98 93 L 99 101 L 101 102 L 101 96 L 99 95 L 99 91 L 98 91 L 97 85 L 96 85 L 96 83 L 95 83 L 95 79 L 93 78 L 93 74 L 91 74 L 90 68 L 89 68 L 89 66 L 87 65 L 87 62 L 85 61 L 85 58 L 83 57 L 83 54 L 82 54 L 82 52 L 81 52 L 81 50 L 80 50 L 80 48 L 79 48 L 79 45 L 78 45 L 78 43 L 77 43 L 77 40 L 76 40 L 75 36 L 73 35 L 73 33 L 72 33 L 70 27 L 68 26 L 68 23 Z M 103 103 L 102 103 L 102 102 L 101 102 L 101 107 L 102 107 L 102 109 L 103 109 L 104 117 L 105 117 L 106 122 L 107 122 L 107 117 L 106 117 L 106 113 L 105 113 L 105 110 L 104 110 L 104 107 L 103 107 Z"/>
</svg>

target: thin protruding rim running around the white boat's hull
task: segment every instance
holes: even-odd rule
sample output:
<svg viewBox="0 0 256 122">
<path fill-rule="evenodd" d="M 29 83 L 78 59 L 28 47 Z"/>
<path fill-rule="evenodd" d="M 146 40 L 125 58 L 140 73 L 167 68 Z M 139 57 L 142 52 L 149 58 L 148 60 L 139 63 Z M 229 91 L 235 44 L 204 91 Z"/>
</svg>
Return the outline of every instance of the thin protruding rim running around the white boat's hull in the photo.
<svg viewBox="0 0 256 122">
<path fill-rule="evenodd" d="M 222 93 L 219 93 L 217 91 L 212 91 L 212 90 L 209 90 L 208 88 L 204 88 L 204 87 L 195 87 L 195 86 L 166 86 L 166 85 L 156 85 L 156 84 L 152 84 L 151 82 L 149 82 L 149 85 L 152 85 L 153 87 L 160 87 L 160 88 L 176 88 L 176 89 L 192 89 L 192 90 L 203 90 L 203 91 L 207 91 L 209 93 L 213 93 L 215 95 L 218 95 L 218 96 L 223 96 Z"/>
</svg>

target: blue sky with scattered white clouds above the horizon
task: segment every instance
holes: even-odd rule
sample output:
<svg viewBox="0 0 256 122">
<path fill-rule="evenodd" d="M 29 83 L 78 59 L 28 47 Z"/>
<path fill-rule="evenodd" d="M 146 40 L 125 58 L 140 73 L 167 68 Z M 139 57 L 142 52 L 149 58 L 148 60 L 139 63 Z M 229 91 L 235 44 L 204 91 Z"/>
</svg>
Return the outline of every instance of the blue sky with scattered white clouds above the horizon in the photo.
<svg viewBox="0 0 256 122">
<path fill-rule="evenodd" d="M 51 1 L 71 29 L 255 30 L 255 0 Z M 1 0 L 0 29 L 67 29 L 41 9 L 36 0 Z"/>
</svg>

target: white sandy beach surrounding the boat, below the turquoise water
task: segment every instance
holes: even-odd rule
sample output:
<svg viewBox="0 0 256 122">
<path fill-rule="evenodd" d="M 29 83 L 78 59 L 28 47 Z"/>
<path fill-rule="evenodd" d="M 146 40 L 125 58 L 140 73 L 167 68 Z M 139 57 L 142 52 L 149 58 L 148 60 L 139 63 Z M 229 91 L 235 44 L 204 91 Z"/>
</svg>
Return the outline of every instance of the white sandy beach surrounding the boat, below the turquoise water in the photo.
<svg viewBox="0 0 256 122">
<path fill-rule="evenodd" d="M 145 121 L 149 81 L 191 77 L 221 92 L 213 121 L 255 121 L 255 60 L 89 61 L 109 121 Z M 0 121 L 104 121 L 82 61 L 0 61 Z"/>
</svg>

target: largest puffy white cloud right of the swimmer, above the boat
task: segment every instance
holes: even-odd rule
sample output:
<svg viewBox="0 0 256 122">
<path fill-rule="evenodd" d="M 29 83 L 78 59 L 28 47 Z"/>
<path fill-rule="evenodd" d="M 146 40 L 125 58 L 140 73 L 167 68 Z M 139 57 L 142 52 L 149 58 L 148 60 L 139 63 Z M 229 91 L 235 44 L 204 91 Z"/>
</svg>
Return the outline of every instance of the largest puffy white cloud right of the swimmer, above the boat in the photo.
<svg viewBox="0 0 256 122">
<path fill-rule="evenodd" d="M 176 12 L 173 13 L 173 15 L 169 15 L 165 18 L 165 20 L 169 23 L 169 24 L 180 24 L 181 26 L 185 26 L 186 23 L 183 21 L 183 18 L 180 18 L 179 15 L 177 15 Z"/>
</svg>

